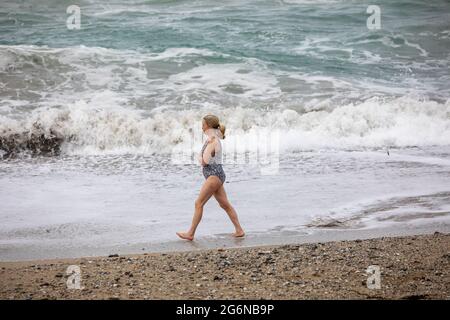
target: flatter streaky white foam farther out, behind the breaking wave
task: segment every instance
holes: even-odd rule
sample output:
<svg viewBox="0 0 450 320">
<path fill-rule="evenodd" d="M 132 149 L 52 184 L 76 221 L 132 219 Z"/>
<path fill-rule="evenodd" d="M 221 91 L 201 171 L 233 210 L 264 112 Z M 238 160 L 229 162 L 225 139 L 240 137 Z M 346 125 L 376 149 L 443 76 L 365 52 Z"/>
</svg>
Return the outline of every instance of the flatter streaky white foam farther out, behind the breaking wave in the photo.
<svg viewBox="0 0 450 320">
<path fill-rule="evenodd" d="M 420 51 L 419 47 L 415 48 Z M 316 58 L 326 58 L 331 51 L 358 65 L 387 61 L 393 66 L 396 77 L 397 73 L 408 76 L 398 77 L 398 83 L 393 85 L 392 79 L 382 77 L 352 78 L 307 70 L 286 71 L 253 57 L 236 58 L 210 49 L 188 47 L 148 52 L 85 46 L 3 45 L 0 46 L 0 72 L 5 72 L 8 78 L 5 78 L 7 81 L 2 78 L 0 86 L 4 91 L 3 98 L 20 97 L 21 100 L 39 102 L 41 106 L 64 105 L 80 99 L 90 101 L 91 97 L 106 91 L 114 94 L 121 105 L 137 101 L 149 109 L 180 103 L 199 107 L 207 101 L 217 105 L 245 106 L 249 99 L 272 99 L 268 101 L 271 104 L 275 99 L 284 102 L 291 99 L 294 103 L 300 99 L 305 104 L 323 105 L 342 101 L 342 98 L 363 97 L 365 100 L 375 94 L 402 96 L 419 93 L 426 96 L 433 93 L 447 98 L 445 87 L 437 90 L 439 83 L 418 78 L 418 72 L 429 73 L 436 68 L 446 68 L 446 61 L 429 59 L 428 62 L 413 64 L 394 63 L 367 50 L 337 45 L 328 38 L 307 38 L 294 50 Z M 420 52 L 424 56 L 427 54 Z M 216 57 L 227 62 L 208 60 Z M 39 79 L 33 74 L 39 74 Z M 286 81 L 281 83 L 280 78 Z M 291 79 L 294 82 L 290 82 Z"/>
</svg>

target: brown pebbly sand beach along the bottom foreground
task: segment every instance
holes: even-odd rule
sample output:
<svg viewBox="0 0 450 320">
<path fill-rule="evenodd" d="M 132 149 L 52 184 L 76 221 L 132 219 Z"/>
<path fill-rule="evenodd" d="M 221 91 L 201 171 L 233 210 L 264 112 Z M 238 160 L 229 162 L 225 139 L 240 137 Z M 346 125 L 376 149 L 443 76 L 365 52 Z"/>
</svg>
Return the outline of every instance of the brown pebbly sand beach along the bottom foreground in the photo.
<svg viewBox="0 0 450 320">
<path fill-rule="evenodd" d="M 81 289 L 66 270 L 79 266 Z M 0 263 L 1 299 L 449 299 L 450 235 Z M 367 286 L 380 267 L 380 288 Z"/>
</svg>

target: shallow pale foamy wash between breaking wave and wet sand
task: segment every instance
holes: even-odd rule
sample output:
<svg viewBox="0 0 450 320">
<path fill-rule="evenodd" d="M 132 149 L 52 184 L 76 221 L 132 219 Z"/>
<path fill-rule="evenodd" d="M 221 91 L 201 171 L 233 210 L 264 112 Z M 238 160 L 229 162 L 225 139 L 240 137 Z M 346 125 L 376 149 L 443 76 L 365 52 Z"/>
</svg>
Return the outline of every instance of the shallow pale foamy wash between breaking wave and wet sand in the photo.
<svg viewBox="0 0 450 320">
<path fill-rule="evenodd" d="M 314 235 L 324 228 L 448 226 L 447 154 L 443 148 L 391 149 L 389 155 L 384 150 L 290 153 L 281 156 L 274 175 L 262 175 L 257 166 L 225 165 L 225 188 L 257 244 L 271 241 L 264 234 Z M 202 181 L 197 165 L 174 165 L 164 157 L 4 161 L 0 259 L 11 258 L 12 249 L 20 256 L 30 246 L 47 254 L 59 246 L 75 255 L 96 247 L 157 250 L 155 244 L 176 242 L 175 232 L 188 227 Z M 232 231 L 211 199 L 197 238 L 220 243 Z"/>
</svg>

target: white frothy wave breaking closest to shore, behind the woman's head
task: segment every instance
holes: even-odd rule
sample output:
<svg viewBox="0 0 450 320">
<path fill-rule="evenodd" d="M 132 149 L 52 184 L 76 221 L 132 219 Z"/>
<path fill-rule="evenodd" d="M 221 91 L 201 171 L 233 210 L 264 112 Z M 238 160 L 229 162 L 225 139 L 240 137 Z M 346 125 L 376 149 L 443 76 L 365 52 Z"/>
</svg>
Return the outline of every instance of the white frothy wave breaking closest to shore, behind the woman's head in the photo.
<svg viewBox="0 0 450 320">
<path fill-rule="evenodd" d="M 202 115 L 214 112 L 227 125 L 228 137 L 281 132 L 281 150 L 360 149 L 448 145 L 450 102 L 440 104 L 403 97 L 369 99 L 331 111 L 299 113 L 291 109 L 208 108 L 143 114 L 120 106 L 96 108 L 85 101 L 62 108 L 36 109 L 30 117 L 0 117 L 3 137 L 23 131 L 58 133 L 68 153 L 165 153 L 189 144 Z M 231 140 L 231 139 L 230 139 Z M 227 140 L 224 141 L 226 148 Z"/>
</svg>

